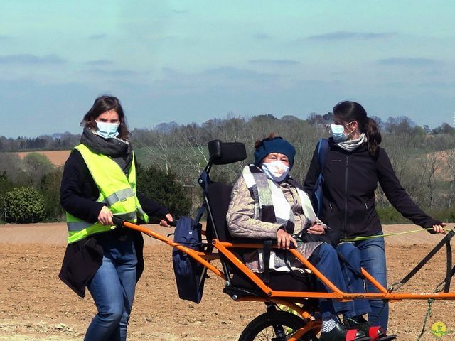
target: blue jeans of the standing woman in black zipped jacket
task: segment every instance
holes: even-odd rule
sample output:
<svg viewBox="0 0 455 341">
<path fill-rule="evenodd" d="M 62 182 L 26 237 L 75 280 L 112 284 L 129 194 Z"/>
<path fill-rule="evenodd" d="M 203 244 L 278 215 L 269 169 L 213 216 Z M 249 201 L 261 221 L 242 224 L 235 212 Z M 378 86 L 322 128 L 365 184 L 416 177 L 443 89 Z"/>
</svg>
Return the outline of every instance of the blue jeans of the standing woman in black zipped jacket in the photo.
<svg viewBox="0 0 455 341">
<path fill-rule="evenodd" d="M 382 231 L 378 234 L 382 234 Z M 385 261 L 384 237 L 360 240 L 354 242 L 360 250 L 361 264 L 363 269 L 373 276 L 384 288 L 387 288 L 387 264 Z M 365 290 L 367 293 L 379 293 L 377 288 L 366 281 Z M 383 300 L 370 300 L 371 313 L 368 315 L 368 322 L 373 325 L 380 325 L 387 330 L 389 319 L 389 304 Z"/>
</svg>

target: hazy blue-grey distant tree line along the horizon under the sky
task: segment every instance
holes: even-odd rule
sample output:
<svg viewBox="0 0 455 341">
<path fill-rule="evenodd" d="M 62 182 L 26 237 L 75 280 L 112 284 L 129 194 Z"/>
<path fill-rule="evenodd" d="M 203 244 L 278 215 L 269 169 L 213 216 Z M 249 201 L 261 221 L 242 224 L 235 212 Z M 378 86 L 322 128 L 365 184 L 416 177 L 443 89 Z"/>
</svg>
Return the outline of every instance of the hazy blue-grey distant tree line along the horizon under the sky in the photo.
<svg viewBox="0 0 455 341">
<path fill-rule="evenodd" d="M 324 126 L 325 129 L 320 130 L 328 131 L 328 124 L 333 121 L 333 113 L 331 112 L 323 115 L 311 112 L 306 119 L 299 119 L 292 115 L 286 115 L 281 119 L 277 119 L 271 114 L 258 115 L 249 119 L 232 117 L 232 114 L 230 116 L 231 117 L 228 119 L 209 119 L 203 124 L 192 123 L 181 125 L 176 122 L 168 122 L 158 124 L 152 129 L 134 129 L 132 131 L 132 140 L 137 141 L 139 144 L 144 146 L 156 146 L 161 142 L 161 136 L 178 132 L 178 134 L 184 135 L 188 138 L 188 141 L 191 143 L 205 143 L 206 141 L 210 141 L 210 139 L 216 139 L 216 136 L 225 136 L 226 134 L 223 133 L 223 129 L 228 129 L 229 131 L 232 130 L 232 133 L 234 134 L 232 137 L 240 138 L 242 128 L 245 130 L 245 127 L 239 126 L 240 124 L 246 124 L 248 127 L 257 128 L 258 125 L 262 126 L 265 124 L 267 126 L 267 124 L 271 121 L 279 122 L 279 124 L 284 124 L 284 126 L 297 122 L 298 124 L 319 126 L 319 128 Z M 429 126 L 427 125 L 418 126 L 407 116 L 389 117 L 387 121 L 382 121 L 380 117 L 373 116 L 372 118 L 375 119 L 382 134 L 417 134 L 431 136 L 455 135 L 454 127 L 446 122 L 434 129 L 429 129 Z M 259 124 L 258 121 L 260 122 Z M 260 131 L 257 131 L 257 133 L 260 133 Z M 193 134 L 193 136 L 191 136 L 191 134 Z M 16 139 L 13 139 L 11 137 L 6 138 L 4 136 L 0 136 L 0 151 L 17 152 L 68 150 L 77 145 L 79 140 L 80 134 L 71 134 L 68 131 L 52 135 L 41 135 L 34 138 L 19 136 Z"/>
</svg>

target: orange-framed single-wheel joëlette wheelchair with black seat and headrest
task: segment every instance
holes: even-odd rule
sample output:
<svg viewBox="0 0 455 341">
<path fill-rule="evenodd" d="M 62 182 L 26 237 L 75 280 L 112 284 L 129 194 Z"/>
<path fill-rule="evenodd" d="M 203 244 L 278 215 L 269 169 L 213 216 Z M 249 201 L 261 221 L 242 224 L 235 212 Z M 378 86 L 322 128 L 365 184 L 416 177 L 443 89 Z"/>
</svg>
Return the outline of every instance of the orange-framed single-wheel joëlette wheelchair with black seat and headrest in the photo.
<svg viewBox="0 0 455 341">
<path fill-rule="evenodd" d="M 455 293 L 449 292 L 451 277 L 454 268 L 451 267 L 450 239 L 454 236 L 452 229 L 444 239 L 434 248 L 429 255 L 418 264 L 402 281 L 390 288 L 384 288 L 367 271 L 362 269 L 365 281 L 370 281 L 378 288 L 379 293 L 344 293 L 328 281 L 307 259 L 296 249 L 289 252 L 299 259 L 309 273 L 292 274 L 294 271 L 270 271 L 267 278 L 264 274 L 252 272 L 242 261 L 242 253 L 252 249 L 263 249 L 264 240 L 235 239 L 228 232 L 226 213 L 230 201 L 231 185 L 216 183 L 210 180 L 210 169 L 213 165 L 225 165 L 245 160 L 245 146 L 238 142 L 223 143 L 219 140 L 208 143 L 210 160 L 200 174 L 198 183 L 203 188 L 203 207 L 207 211 L 207 224 L 205 241 L 202 251 L 195 251 L 183 244 L 173 242 L 168 237 L 151 231 L 130 222 L 122 222 L 124 227 L 143 232 L 155 239 L 179 249 L 206 269 L 220 276 L 225 281 L 224 293 L 234 301 L 261 301 L 266 305 L 266 312 L 252 320 L 240 335 L 239 341 L 251 340 L 318 340 L 316 335 L 321 330 L 321 321 L 318 318 L 318 298 L 333 298 L 338 300 L 353 300 L 356 298 L 376 298 L 385 301 L 400 301 L 404 299 L 427 300 L 453 300 Z M 394 293 L 439 250 L 447 247 L 447 273 L 444 279 L 444 292 L 439 293 Z M 272 246 L 273 247 L 273 246 Z M 211 264 L 214 259 L 219 259 L 222 269 Z M 311 271 L 311 272 L 310 272 Z M 331 292 L 322 293 L 314 291 L 315 278 L 331 289 Z M 287 307 L 287 308 L 282 308 Z M 294 310 L 289 313 L 284 310 Z"/>
</svg>

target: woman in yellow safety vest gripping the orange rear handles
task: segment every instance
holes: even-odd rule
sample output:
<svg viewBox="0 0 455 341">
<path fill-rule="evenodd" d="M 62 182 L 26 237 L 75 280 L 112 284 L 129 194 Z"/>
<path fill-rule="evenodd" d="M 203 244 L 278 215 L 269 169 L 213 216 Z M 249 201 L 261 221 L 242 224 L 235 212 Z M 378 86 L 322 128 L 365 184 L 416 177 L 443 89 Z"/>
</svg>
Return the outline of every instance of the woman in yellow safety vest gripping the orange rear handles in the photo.
<svg viewBox="0 0 455 341">
<path fill-rule="evenodd" d="M 139 232 L 115 227 L 112 217 L 148 222 L 172 215 L 136 191 L 136 163 L 122 106 L 116 97 L 95 99 L 81 122 L 80 144 L 65 163 L 60 202 L 66 211 L 68 247 L 59 277 L 79 296 L 88 288 L 97 315 L 86 341 L 126 340 L 136 283 L 144 269 Z"/>
</svg>

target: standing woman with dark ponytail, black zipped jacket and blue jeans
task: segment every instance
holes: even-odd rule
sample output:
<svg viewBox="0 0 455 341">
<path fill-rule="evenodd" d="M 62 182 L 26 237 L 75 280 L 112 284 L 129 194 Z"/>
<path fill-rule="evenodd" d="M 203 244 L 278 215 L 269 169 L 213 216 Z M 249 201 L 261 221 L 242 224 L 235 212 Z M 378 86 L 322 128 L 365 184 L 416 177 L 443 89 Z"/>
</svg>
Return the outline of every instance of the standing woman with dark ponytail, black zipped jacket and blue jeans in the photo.
<svg viewBox="0 0 455 341">
<path fill-rule="evenodd" d="M 445 224 L 426 215 L 407 195 L 397 179 L 384 149 L 375 121 L 367 117 L 356 102 L 340 102 L 333 107 L 332 137 L 323 170 L 319 169 L 318 149 L 306 175 L 304 188 L 312 193 L 319 174 L 323 175 L 323 207 L 320 219 L 337 238 L 380 236 L 382 227 L 375 210 L 378 182 L 387 199 L 404 217 L 422 227 L 433 227 L 433 233 L 445 233 Z M 384 238 L 376 237 L 354 242 L 360 249 L 362 266 L 387 288 Z M 368 282 L 368 281 L 367 281 Z M 366 291 L 378 290 L 369 282 Z M 388 305 L 370 300 L 373 310 L 370 323 L 387 330 Z"/>
</svg>

